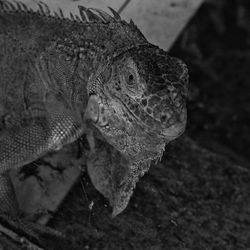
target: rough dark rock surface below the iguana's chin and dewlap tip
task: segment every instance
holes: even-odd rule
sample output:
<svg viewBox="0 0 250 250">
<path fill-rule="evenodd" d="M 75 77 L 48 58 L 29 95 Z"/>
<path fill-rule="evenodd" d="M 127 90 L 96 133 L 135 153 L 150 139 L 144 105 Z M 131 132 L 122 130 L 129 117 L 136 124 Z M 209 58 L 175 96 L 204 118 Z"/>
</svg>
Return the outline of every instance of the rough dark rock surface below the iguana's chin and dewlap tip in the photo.
<svg viewBox="0 0 250 250">
<path fill-rule="evenodd" d="M 112 219 L 87 173 L 51 225 L 71 249 L 248 249 L 250 171 L 182 137 Z"/>
</svg>

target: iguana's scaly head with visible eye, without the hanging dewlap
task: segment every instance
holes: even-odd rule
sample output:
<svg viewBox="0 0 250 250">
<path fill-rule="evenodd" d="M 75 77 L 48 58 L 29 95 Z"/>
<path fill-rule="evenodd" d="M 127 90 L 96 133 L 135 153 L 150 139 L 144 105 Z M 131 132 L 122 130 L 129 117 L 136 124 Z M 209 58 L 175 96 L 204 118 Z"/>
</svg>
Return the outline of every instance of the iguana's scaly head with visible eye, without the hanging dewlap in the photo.
<svg viewBox="0 0 250 250">
<path fill-rule="evenodd" d="M 134 162 L 159 158 L 185 129 L 187 68 L 156 46 L 131 49 L 88 83 L 87 116 Z"/>
</svg>

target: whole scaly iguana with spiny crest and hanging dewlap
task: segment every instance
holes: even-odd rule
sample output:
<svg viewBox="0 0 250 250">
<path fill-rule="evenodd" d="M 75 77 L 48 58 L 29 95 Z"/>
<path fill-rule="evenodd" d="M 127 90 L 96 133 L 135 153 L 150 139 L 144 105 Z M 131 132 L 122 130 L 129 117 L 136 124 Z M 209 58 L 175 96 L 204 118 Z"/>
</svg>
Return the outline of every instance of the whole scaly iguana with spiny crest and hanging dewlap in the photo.
<svg viewBox="0 0 250 250">
<path fill-rule="evenodd" d="M 18 211 L 9 170 L 86 134 L 89 175 L 115 216 L 184 131 L 186 65 L 110 10 L 79 6 L 67 18 L 44 3 L 34 11 L 0 0 L 2 213 Z M 109 146 L 95 146 L 93 136 Z"/>
</svg>

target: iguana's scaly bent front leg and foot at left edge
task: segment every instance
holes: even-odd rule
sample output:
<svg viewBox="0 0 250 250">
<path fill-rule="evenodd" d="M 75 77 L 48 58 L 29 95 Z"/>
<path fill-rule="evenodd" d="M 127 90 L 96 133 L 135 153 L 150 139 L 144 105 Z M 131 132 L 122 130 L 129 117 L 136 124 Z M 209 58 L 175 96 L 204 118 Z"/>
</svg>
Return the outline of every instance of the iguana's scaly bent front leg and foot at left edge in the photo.
<svg viewBox="0 0 250 250">
<path fill-rule="evenodd" d="M 20 211 L 8 172 L 77 138 L 82 128 L 72 116 L 66 114 L 53 114 L 53 119 L 49 116 L 35 118 L 29 125 L 9 129 L 0 135 L 0 225 L 12 228 L 23 237 L 31 237 L 41 246 L 47 245 L 41 239 L 59 237 L 60 234 L 18 218 Z"/>
</svg>

